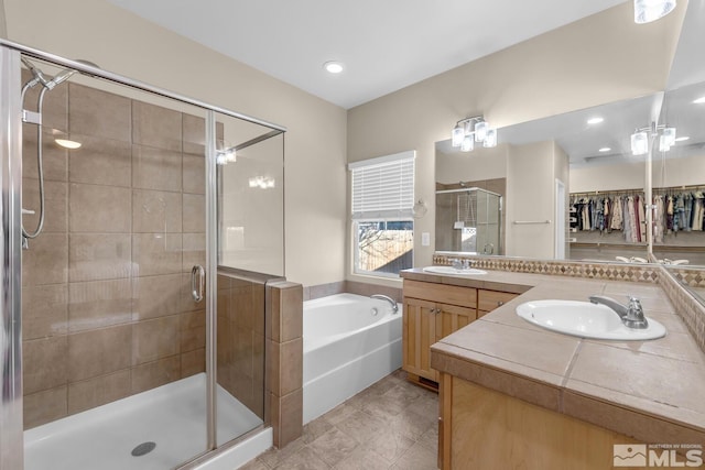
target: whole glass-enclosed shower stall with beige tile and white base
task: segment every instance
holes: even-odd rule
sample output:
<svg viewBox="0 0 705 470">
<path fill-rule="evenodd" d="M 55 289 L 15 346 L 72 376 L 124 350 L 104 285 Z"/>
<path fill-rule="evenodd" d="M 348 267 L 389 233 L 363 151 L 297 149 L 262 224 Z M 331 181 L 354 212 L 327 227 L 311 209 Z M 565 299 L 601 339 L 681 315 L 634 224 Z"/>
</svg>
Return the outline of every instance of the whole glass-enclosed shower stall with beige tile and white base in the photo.
<svg viewBox="0 0 705 470">
<path fill-rule="evenodd" d="M 0 467 L 271 445 L 285 129 L 7 41 L 0 111 Z"/>
</svg>

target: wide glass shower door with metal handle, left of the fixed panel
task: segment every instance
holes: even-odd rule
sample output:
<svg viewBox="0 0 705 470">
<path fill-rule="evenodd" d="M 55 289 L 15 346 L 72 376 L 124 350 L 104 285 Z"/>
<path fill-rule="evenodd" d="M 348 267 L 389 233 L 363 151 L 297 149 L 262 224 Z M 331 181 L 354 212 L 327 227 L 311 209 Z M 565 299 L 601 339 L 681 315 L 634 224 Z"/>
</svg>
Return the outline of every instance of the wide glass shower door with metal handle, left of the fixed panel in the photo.
<svg viewBox="0 0 705 470">
<path fill-rule="evenodd" d="M 177 467 L 209 450 L 207 113 L 34 57 L 22 84 L 24 468 Z"/>
</svg>

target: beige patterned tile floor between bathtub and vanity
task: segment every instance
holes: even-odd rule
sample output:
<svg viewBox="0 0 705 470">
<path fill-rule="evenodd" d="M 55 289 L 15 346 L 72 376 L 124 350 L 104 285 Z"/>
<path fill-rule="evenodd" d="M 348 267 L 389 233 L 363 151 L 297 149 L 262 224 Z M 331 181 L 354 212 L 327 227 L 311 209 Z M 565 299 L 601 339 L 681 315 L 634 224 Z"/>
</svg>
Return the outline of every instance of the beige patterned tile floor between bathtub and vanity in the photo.
<svg viewBox="0 0 705 470">
<path fill-rule="evenodd" d="M 401 370 L 304 426 L 242 470 L 436 470 L 438 395 Z"/>
</svg>

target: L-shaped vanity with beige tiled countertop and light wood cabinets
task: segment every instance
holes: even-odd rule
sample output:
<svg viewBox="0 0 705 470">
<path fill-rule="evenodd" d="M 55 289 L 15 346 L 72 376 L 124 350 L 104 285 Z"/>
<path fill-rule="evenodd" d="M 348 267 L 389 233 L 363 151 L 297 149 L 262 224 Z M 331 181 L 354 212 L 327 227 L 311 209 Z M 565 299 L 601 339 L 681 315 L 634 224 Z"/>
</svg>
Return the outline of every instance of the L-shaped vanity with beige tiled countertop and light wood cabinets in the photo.
<svg viewBox="0 0 705 470">
<path fill-rule="evenodd" d="M 414 295 L 405 308 L 425 295 L 424 287 L 467 289 L 465 298 L 476 299 L 475 307 L 465 307 L 475 309 L 473 321 L 430 347 L 427 376 L 440 385 L 440 468 L 605 469 L 623 449 L 615 445 L 632 450 L 636 445 L 673 446 L 654 452 L 671 466 L 702 466 L 695 455 L 687 460 L 683 446 L 705 447 L 705 353 L 675 314 L 665 281 L 505 271 L 470 277 L 409 270 L 402 276 L 404 302 Z M 539 328 L 516 314 L 524 302 L 586 300 L 595 294 L 639 297 L 647 317 L 666 327 L 666 337 L 587 340 Z M 443 311 L 448 298 L 426 298 L 425 308 Z M 482 306 L 489 313 L 479 316 Z M 405 369 L 413 373 L 406 359 Z"/>
</svg>

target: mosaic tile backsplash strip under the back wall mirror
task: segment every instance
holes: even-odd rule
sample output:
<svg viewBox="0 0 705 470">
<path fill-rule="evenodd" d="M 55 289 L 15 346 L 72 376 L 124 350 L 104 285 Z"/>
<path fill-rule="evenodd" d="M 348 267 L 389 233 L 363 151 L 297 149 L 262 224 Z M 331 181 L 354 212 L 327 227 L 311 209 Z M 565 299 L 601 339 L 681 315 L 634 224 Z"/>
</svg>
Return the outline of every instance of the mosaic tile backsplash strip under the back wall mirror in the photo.
<svg viewBox="0 0 705 470">
<path fill-rule="evenodd" d="M 650 282 L 659 281 L 662 266 L 623 263 L 586 263 L 578 261 L 519 260 L 511 258 L 457 256 L 434 254 L 433 264 L 452 265 L 454 259 L 473 260 L 473 266 L 482 270 L 511 271 L 516 273 L 563 275 L 606 281 Z"/>
</svg>

